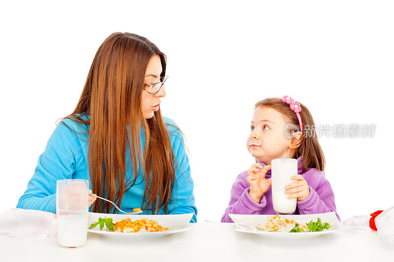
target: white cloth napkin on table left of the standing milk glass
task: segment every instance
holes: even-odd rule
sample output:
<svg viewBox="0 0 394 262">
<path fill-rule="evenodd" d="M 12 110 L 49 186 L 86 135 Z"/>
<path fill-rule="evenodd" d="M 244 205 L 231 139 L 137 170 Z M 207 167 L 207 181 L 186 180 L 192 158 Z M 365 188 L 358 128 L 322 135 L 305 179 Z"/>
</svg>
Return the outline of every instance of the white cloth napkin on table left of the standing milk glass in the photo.
<svg viewBox="0 0 394 262">
<path fill-rule="evenodd" d="M 56 214 L 39 210 L 12 208 L 0 214 L 0 236 L 22 238 L 56 235 Z"/>
</svg>

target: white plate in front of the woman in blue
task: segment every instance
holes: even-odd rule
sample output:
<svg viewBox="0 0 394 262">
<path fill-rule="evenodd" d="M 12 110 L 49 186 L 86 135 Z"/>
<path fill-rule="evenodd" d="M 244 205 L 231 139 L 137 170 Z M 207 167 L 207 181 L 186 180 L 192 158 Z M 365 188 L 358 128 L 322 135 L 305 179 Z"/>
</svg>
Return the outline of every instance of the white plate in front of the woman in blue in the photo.
<svg viewBox="0 0 394 262">
<path fill-rule="evenodd" d="M 120 221 L 122 219 L 130 218 L 131 220 L 139 220 L 147 218 L 149 220 L 155 220 L 159 225 L 169 228 L 167 231 L 163 232 L 141 232 L 141 233 L 121 233 L 121 232 L 111 232 L 106 231 L 106 228 L 102 230 L 99 226 L 93 229 L 88 229 L 90 233 L 97 233 L 101 236 L 108 238 L 120 238 L 120 239 L 152 239 L 160 238 L 174 233 L 180 233 L 188 231 L 190 219 L 192 219 L 193 213 L 189 214 L 176 214 L 176 215 L 127 215 L 127 214 L 102 214 L 102 213 L 92 213 L 89 212 L 89 222 L 88 225 L 93 222 L 98 222 L 99 218 L 112 218 L 114 222 Z"/>
</svg>

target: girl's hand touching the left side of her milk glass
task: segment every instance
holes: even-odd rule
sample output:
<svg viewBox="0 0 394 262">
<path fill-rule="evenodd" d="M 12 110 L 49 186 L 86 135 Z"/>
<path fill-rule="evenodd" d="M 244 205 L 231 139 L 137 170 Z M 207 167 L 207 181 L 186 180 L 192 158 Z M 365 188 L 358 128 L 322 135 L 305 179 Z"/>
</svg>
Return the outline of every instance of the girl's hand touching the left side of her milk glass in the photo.
<svg viewBox="0 0 394 262">
<path fill-rule="evenodd" d="M 261 169 L 261 171 L 259 171 Z M 248 176 L 246 180 L 250 183 L 249 196 L 254 202 L 260 204 L 260 199 L 263 194 L 267 192 L 268 188 L 271 186 L 271 178 L 265 179 L 265 174 L 271 166 L 263 167 L 260 163 L 255 163 L 250 169 L 248 169 Z"/>
</svg>

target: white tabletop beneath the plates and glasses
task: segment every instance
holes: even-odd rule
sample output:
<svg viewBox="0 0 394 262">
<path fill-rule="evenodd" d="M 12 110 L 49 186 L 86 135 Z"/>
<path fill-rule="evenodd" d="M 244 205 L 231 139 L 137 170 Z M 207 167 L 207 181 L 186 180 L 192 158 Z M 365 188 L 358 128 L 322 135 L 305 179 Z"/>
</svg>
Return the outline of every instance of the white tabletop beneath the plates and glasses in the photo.
<svg viewBox="0 0 394 262">
<path fill-rule="evenodd" d="M 374 231 L 281 240 L 239 233 L 233 224 L 190 225 L 187 232 L 139 241 L 88 233 L 86 245 L 72 249 L 59 246 L 56 237 L 0 237 L 0 261 L 394 261 L 394 243 L 382 241 Z"/>
</svg>

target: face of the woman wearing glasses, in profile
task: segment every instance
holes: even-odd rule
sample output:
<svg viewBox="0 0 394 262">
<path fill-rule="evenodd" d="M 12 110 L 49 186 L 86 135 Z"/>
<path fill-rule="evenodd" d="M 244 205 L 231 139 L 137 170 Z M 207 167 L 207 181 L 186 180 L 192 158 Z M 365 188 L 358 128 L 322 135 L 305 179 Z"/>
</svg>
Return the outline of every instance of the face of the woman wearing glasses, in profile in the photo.
<svg viewBox="0 0 394 262">
<path fill-rule="evenodd" d="M 160 74 L 162 73 L 162 62 L 158 55 L 152 57 L 145 71 L 144 84 L 155 84 L 160 82 Z M 142 90 L 141 102 L 142 102 L 142 113 L 145 119 L 153 117 L 155 111 L 159 110 L 159 104 L 161 103 L 160 98 L 165 96 L 164 87 L 161 87 L 159 92 L 151 94 L 145 90 Z"/>
</svg>

